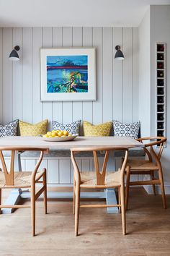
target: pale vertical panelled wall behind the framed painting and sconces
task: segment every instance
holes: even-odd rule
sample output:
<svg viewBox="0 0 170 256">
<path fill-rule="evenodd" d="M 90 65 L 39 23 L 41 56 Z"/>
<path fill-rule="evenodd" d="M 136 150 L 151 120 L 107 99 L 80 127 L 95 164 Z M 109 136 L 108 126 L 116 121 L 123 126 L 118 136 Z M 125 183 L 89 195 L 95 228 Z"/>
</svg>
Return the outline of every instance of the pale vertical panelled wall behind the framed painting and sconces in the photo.
<svg viewBox="0 0 170 256">
<path fill-rule="evenodd" d="M 20 61 L 9 61 L 19 45 Z M 124 61 L 115 61 L 120 45 Z M 40 102 L 40 48 L 97 48 L 97 101 Z M 0 29 L 0 121 L 36 123 L 52 119 L 67 123 L 82 119 L 138 120 L 138 28 L 24 27 Z"/>
</svg>

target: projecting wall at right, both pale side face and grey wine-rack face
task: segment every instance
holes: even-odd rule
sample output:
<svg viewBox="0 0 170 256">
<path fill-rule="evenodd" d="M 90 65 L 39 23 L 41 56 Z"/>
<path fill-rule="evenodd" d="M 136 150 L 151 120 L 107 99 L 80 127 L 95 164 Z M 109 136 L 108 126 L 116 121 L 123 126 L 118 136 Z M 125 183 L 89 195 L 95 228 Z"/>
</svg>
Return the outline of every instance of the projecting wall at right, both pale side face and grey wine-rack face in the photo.
<svg viewBox="0 0 170 256">
<path fill-rule="evenodd" d="M 166 193 L 170 193 L 170 5 L 151 6 L 139 26 L 139 119 L 141 135 L 156 136 L 156 43 L 166 43 L 166 137 L 161 158 Z M 152 189 L 151 189 L 152 190 Z M 150 188 L 147 190 L 150 191 Z"/>
</svg>

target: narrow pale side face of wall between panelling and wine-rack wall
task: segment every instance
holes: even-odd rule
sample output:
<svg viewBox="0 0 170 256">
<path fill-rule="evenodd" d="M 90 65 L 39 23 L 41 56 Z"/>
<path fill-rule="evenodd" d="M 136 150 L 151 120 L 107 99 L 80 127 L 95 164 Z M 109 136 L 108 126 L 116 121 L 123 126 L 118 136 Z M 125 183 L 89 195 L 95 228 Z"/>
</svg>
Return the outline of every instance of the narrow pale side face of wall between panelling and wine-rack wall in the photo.
<svg viewBox="0 0 170 256">
<path fill-rule="evenodd" d="M 141 137 L 151 132 L 150 9 L 139 26 L 139 119 Z"/>
</svg>

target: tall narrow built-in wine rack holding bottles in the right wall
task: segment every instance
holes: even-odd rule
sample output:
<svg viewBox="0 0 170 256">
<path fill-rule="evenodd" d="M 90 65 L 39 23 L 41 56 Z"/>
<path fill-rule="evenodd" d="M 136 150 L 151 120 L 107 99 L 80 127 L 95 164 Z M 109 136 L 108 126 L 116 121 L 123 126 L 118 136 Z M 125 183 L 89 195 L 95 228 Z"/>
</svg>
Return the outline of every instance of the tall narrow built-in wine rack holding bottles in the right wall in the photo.
<svg viewBox="0 0 170 256">
<path fill-rule="evenodd" d="M 156 43 L 156 134 L 166 136 L 166 43 Z"/>
</svg>

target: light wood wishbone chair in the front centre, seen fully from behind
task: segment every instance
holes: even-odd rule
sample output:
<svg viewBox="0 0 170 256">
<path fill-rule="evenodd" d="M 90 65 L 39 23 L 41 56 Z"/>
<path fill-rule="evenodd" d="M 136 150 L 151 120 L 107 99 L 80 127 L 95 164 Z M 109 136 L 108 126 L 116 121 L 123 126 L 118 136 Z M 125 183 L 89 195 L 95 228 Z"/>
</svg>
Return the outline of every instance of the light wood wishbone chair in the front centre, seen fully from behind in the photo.
<svg viewBox="0 0 170 256">
<path fill-rule="evenodd" d="M 109 152 L 115 150 L 125 151 L 125 158 L 121 168 L 115 172 L 107 172 L 107 162 L 109 158 Z M 89 151 L 94 156 L 94 169 L 95 171 L 79 171 L 79 167 L 76 163 L 76 153 L 82 151 Z M 102 171 L 99 171 L 99 161 L 97 152 L 104 151 L 104 161 Z M 128 148 L 73 148 L 71 149 L 71 160 L 74 169 L 73 178 L 73 213 L 75 214 L 75 235 L 78 236 L 79 232 L 79 208 L 97 208 L 97 207 L 119 207 L 122 213 L 122 234 L 126 234 L 126 219 L 125 219 L 125 166 L 128 160 Z M 119 192 L 119 202 L 115 205 L 80 205 L 80 190 L 86 189 L 107 189 L 117 188 Z"/>
</svg>

